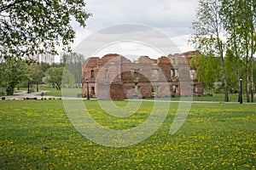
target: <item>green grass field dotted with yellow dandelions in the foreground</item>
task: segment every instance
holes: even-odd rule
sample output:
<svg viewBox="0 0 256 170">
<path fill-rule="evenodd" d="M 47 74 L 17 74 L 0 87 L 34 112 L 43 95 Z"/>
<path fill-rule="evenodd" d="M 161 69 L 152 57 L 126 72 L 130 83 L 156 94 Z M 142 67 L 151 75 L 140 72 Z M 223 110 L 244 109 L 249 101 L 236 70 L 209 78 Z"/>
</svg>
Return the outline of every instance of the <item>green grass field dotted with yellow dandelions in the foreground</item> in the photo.
<svg viewBox="0 0 256 170">
<path fill-rule="evenodd" d="M 147 119 L 152 102 L 128 118 L 108 116 L 84 101 L 103 126 L 130 128 Z M 115 101 L 125 106 L 125 101 Z M 84 138 L 61 100 L 0 101 L 0 169 L 255 169 L 256 105 L 193 104 L 183 127 L 169 134 L 177 111 L 150 138 L 108 147 Z"/>
</svg>

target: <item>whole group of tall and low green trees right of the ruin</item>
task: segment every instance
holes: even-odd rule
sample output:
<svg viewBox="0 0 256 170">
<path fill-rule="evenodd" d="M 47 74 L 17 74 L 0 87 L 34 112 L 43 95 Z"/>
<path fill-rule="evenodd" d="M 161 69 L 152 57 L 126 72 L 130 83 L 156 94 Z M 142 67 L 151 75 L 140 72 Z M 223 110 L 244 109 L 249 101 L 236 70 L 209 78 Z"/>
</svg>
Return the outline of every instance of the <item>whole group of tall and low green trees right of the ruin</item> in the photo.
<svg viewBox="0 0 256 170">
<path fill-rule="evenodd" d="M 207 86 L 222 82 L 225 101 L 229 101 L 230 92 L 243 88 L 247 102 L 253 102 L 255 25 L 255 0 L 199 1 L 189 42 L 201 52 L 202 58 L 192 64 L 198 66 L 197 77 Z"/>
</svg>

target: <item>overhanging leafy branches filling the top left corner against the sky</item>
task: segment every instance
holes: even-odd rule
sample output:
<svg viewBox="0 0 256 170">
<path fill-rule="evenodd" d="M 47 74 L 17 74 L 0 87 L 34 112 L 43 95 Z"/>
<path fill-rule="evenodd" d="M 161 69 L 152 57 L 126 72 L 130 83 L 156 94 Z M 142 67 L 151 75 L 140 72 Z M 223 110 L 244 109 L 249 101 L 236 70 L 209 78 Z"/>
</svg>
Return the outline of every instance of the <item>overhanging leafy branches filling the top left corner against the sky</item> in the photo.
<svg viewBox="0 0 256 170">
<path fill-rule="evenodd" d="M 84 27 L 90 16 L 84 7 L 83 0 L 0 1 L 1 58 L 69 49 L 75 36 L 71 22 Z"/>
</svg>

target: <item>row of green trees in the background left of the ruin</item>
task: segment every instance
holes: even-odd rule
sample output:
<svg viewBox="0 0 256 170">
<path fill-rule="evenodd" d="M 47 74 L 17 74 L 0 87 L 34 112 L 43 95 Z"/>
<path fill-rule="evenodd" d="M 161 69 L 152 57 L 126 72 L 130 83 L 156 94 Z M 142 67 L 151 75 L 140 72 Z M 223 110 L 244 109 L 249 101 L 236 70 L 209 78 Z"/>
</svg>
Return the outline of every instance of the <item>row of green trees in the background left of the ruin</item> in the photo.
<svg viewBox="0 0 256 170">
<path fill-rule="evenodd" d="M 84 58 L 81 54 L 61 55 L 61 63 L 38 63 L 26 59 L 5 59 L 0 64 L 1 93 L 13 95 L 15 88 L 50 84 L 53 88 L 80 88 Z"/>
</svg>

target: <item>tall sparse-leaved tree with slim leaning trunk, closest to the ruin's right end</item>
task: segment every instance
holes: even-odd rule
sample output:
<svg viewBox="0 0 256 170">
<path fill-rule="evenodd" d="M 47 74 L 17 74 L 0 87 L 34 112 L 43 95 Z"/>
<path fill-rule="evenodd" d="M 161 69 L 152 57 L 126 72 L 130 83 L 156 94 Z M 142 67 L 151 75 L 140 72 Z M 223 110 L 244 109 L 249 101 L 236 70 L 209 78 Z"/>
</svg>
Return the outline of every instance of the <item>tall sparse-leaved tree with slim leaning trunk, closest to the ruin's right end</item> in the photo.
<svg viewBox="0 0 256 170">
<path fill-rule="evenodd" d="M 189 41 L 204 55 L 218 56 L 224 79 L 224 101 L 229 101 L 228 83 L 224 67 L 224 39 L 223 25 L 219 10 L 221 3 L 218 0 L 200 0 L 196 11 L 196 19 L 192 23 L 195 33 Z"/>
</svg>

